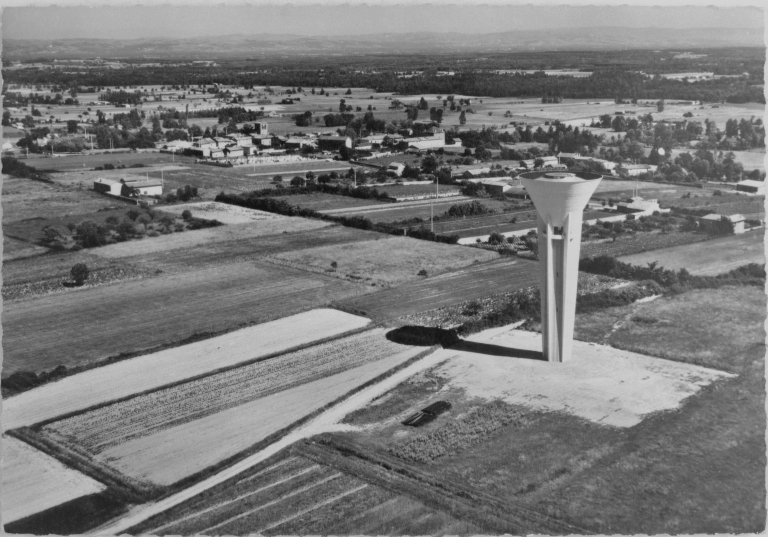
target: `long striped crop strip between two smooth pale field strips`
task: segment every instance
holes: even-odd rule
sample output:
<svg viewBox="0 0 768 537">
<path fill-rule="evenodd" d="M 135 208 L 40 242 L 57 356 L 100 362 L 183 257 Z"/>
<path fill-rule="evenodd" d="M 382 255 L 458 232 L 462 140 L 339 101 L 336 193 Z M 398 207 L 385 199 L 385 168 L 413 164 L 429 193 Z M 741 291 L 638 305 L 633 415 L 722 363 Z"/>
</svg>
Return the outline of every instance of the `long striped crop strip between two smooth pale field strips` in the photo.
<svg viewBox="0 0 768 537">
<path fill-rule="evenodd" d="M 401 345 L 373 330 L 158 390 L 45 427 L 96 454 L 123 442 L 199 419 L 364 363 Z"/>
</svg>

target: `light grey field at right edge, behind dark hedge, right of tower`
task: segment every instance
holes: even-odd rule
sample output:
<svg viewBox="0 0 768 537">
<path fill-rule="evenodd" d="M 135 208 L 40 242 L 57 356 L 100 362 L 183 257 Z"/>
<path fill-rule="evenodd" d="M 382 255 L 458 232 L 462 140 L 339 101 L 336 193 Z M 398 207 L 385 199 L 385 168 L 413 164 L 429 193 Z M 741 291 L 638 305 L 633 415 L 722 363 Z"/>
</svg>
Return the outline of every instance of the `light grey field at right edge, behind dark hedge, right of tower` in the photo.
<svg viewBox="0 0 768 537">
<path fill-rule="evenodd" d="M 691 274 L 715 276 L 747 263 L 765 263 L 763 230 L 722 237 L 706 244 L 685 244 L 619 257 L 619 261 L 645 266 L 656 262 L 669 270 L 685 268 Z"/>
</svg>

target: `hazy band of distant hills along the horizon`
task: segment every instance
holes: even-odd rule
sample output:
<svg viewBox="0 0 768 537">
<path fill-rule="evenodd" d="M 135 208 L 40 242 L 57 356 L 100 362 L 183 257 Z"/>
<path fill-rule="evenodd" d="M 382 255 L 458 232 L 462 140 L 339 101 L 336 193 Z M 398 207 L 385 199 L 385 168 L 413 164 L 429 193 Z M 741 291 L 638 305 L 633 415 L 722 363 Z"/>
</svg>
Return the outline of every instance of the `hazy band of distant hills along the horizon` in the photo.
<svg viewBox="0 0 768 537">
<path fill-rule="evenodd" d="M 226 59 L 281 54 L 385 54 L 761 47 L 756 28 L 555 28 L 490 34 L 407 33 L 347 36 L 227 35 L 190 39 L 3 40 L 3 59 Z"/>
</svg>

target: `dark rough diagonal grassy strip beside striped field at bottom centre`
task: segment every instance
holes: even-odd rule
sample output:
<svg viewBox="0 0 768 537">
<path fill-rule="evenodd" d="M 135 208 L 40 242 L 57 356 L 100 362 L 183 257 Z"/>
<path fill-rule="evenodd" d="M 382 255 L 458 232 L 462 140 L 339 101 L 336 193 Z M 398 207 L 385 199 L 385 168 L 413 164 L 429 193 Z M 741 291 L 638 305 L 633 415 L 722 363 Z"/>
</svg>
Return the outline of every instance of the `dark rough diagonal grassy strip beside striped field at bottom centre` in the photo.
<svg viewBox="0 0 768 537">
<path fill-rule="evenodd" d="M 392 492 L 413 497 L 438 511 L 455 513 L 459 519 L 467 519 L 492 531 L 523 535 L 589 533 L 528 507 L 500 502 L 465 485 L 431 476 L 394 457 L 378 451 L 374 453 L 352 440 L 332 434 L 298 443 L 293 452 Z"/>
</svg>

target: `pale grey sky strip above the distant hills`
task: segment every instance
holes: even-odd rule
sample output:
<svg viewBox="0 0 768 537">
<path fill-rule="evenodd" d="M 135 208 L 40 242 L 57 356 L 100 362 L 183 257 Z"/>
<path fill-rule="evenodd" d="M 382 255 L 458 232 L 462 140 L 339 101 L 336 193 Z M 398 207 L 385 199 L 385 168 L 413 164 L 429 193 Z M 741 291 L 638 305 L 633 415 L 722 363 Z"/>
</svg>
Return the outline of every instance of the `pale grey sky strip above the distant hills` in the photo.
<svg viewBox="0 0 768 537">
<path fill-rule="evenodd" d="M 28 0 L 27 0 L 28 1 Z M 230 34 L 492 33 L 558 27 L 763 27 L 757 7 L 595 5 L 143 5 L 6 7 L 4 39 Z"/>
</svg>

